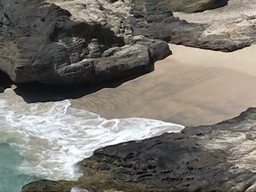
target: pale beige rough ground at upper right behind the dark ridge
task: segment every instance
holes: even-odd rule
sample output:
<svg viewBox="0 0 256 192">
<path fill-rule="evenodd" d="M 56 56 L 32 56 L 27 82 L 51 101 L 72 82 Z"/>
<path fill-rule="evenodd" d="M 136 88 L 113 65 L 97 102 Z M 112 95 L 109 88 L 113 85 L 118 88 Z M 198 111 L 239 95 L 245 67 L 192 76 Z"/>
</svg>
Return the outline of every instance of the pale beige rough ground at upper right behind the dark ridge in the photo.
<svg viewBox="0 0 256 192">
<path fill-rule="evenodd" d="M 232 0 L 219 9 L 190 14 L 175 12 L 174 16 L 206 26 L 201 36 L 215 34 L 237 42 L 256 43 L 255 1 Z"/>
</svg>

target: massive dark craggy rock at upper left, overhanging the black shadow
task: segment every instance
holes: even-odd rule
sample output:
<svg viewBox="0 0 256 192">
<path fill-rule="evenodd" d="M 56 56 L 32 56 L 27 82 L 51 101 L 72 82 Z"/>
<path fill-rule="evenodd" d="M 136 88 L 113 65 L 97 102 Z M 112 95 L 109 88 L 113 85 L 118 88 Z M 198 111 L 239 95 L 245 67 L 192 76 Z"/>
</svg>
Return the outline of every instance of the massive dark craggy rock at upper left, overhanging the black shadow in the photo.
<svg viewBox="0 0 256 192">
<path fill-rule="evenodd" d="M 15 83 L 98 83 L 154 68 L 148 46 L 124 46 L 107 22 L 74 19 L 55 4 L 3 0 L 0 15 L 0 69 Z M 118 51 L 105 57 L 112 47 Z"/>
</svg>

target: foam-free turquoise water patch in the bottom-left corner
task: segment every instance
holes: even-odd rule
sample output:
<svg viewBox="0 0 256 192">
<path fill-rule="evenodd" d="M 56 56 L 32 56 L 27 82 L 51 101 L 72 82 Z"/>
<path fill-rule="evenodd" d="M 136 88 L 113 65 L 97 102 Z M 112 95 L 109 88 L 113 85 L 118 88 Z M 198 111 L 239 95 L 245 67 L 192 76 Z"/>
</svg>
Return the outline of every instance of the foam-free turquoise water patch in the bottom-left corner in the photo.
<svg viewBox="0 0 256 192">
<path fill-rule="evenodd" d="M 8 143 L 0 143 L 0 191 L 20 192 L 23 185 L 38 179 L 19 172 L 23 160 Z"/>
</svg>

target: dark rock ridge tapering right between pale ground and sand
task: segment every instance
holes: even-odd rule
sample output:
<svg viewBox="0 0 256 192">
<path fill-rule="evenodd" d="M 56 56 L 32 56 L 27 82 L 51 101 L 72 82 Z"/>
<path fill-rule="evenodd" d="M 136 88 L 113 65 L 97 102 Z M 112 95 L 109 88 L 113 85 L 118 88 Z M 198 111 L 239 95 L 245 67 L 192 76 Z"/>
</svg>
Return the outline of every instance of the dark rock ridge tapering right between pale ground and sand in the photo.
<svg viewBox="0 0 256 192">
<path fill-rule="evenodd" d="M 135 1 L 130 23 L 135 35 L 158 38 L 169 43 L 202 49 L 230 52 L 250 46 L 251 42 L 234 41 L 225 35 L 204 35 L 205 25 L 175 18 L 168 6 L 157 0 Z"/>
</svg>

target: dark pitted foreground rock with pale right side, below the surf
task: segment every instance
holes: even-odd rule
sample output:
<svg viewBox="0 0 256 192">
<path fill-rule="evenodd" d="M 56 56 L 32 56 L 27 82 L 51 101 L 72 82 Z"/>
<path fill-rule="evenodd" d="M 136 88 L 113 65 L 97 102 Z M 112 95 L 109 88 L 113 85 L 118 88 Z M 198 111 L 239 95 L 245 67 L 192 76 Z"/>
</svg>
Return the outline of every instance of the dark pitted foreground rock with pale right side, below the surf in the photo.
<svg viewBox="0 0 256 192">
<path fill-rule="evenodd" d="M 65 182 L 37 181 L 22 191 L 71 187 L 123 191 L 255 191 L 256 108 L 209 126 L 131 141 L 94 151 L 78 165 L 84 176 Z M 50 183 L 50 184 L 49 184 Z M 38 186 L 41 190 L 37 190 Z M 63 185 L 62 185 L 63 186 Z M 52 188 L 53 187 L 53 188 Z"/>
</svg>

